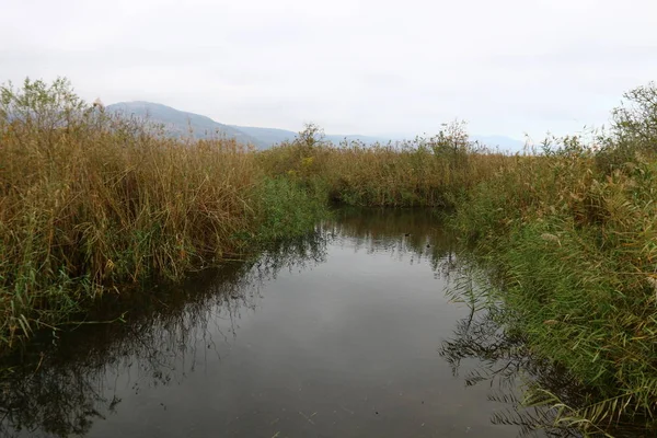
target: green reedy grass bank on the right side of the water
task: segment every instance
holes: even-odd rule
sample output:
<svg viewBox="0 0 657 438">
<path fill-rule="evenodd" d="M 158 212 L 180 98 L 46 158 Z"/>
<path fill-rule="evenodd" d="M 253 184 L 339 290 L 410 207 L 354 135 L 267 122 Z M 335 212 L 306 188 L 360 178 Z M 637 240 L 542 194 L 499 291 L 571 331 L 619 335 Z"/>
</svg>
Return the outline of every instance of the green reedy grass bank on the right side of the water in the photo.
<svg viewBox="0 0 657 438">
<path fill-rule="evenodd" d="M 529 401 L 591 435 L 657 427 L 656 96 L 629 93 L 591 142 L 517 157 L 453 220 L 496 273 L 510 330 L 590 391 L 577 406 L 541 389 Z"/>
</svg>

